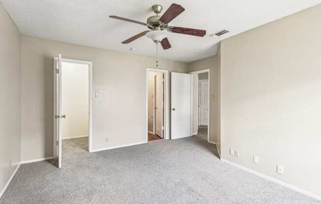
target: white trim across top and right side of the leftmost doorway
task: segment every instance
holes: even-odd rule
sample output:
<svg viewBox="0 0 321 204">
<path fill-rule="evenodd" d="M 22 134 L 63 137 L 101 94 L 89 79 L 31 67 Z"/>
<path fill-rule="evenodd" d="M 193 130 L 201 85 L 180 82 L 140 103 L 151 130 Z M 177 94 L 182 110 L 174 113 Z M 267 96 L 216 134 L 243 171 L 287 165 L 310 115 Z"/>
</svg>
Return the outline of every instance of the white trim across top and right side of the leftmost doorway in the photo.
<svg viewBox="0 0 321 204">
<path fill-rule="evenodd" d="M 58 57 L 54 57 L 54 60 L 58 60 Z M 93 152 L 93 91 L 94 91 L 94 78 L 93 78 L 93 62 L 83 61 L 76 59 L 66 59 L 62 58 L 62 62 L 76 63 L 76 64 L 86 64 L 89 66 L 89 132 L 88 132 L 88 152 Z M 55 138 L 54 131 L 54 138 Z M 55 143 L 55 142 L 54 142 Z M 56 144 L 54 144 L 55 147 Z M 56 155 L 54 148 L 54 156 Z"/>
</svg>

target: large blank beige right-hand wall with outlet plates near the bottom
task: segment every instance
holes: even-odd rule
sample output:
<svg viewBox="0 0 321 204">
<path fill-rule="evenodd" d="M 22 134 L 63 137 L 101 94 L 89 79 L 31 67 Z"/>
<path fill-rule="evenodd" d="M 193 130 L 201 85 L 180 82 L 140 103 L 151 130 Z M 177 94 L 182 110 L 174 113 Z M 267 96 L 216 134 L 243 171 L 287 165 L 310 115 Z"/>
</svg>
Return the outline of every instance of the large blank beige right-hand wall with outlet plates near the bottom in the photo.
<svg viewBox="0 0 321 204">
<path fill-rule="evenodd" d="M 222 157 L 319 196 L 320 19 L 321 5 L 221 43 Z"/>
</svg>

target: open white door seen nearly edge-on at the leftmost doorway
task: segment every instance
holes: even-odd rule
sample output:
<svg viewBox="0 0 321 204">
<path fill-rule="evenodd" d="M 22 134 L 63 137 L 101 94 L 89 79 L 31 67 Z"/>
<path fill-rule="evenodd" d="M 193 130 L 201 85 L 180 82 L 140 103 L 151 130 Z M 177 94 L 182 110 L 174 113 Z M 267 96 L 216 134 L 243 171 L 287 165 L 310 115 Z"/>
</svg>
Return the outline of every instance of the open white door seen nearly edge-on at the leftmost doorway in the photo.
<svg viewBox="0 0 321 204">
<path fill-rule="evenodd" d="M 54 158 L 58 168 L 62 167 L 62 55 L 54 58 Z"/>
</svg>

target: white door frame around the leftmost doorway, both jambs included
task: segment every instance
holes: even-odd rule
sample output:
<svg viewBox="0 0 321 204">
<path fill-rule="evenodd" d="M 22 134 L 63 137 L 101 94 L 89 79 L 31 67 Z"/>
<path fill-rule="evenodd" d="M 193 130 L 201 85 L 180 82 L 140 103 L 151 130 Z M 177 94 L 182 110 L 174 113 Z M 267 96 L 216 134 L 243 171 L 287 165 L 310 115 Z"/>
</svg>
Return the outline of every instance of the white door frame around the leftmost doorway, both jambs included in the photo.
<svg viewBox="0 0 321 204">
<path fill-rule="evenodd" d="M 54 57 L 54 66 L 56 66 L 56 63 L 58 61 L 58 57 Z M 93 62 L 91 61 L 84 61 L 84 60 L 77 60 L 77 59 L 67 59 L 62 58 L 63 62 L 69 62 L 69 63 L 75 63 L 75 64 L 85 64 L 89 67 L 89 93 L 88 93 L 88 99 L 89 99 L 89 130 L 88 130 L 88 152 L 93 152 L 93 92 L 94 92 L 94 79 L 93 79 Z M 56 81 L 56 74 L 54 73 L 54 83 Z M 57 104 L 56 104 L 56 97 L 55 97 L 56 87 L 54 86 L 54 115 L 57 110 Z M 55 121 L 54 121 L 55 125 Z M 55 126 L 54 126 L 55 127 Z M 57 143 L 56 143 L 56 135 L 57 130 L 54 128 L 54 157 L 57 156 Z"/>
</svg>

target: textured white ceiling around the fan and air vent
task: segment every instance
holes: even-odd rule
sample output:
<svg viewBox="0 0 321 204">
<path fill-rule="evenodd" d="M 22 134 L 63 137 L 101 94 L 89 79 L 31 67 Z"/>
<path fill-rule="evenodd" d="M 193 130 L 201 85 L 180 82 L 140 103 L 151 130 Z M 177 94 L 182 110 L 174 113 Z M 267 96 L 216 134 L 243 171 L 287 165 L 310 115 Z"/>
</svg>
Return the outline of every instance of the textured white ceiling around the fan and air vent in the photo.
<svg viewBox="0 0 321 204">
<path fill-rule="evenodd" d="M 206 29 L 203 38 L 169 33 L 172 48 L 159 57 L 191 62 L 215 55 L 218 42 L 232 35 L 280 19 L 321 3 L 321 0 L 0 0 L 23 35 L 78 45 L 155 56 L 156 45 L 142 37 L 128 45 L 127 38 L 147 27 L 108 18 L 121 16 L 146 22 L 151 6 L 171 3 L 185 11 L 170 26 Z M 162 12 L 162 13 L 163 13 Z M 227 29 L 219 39 L 208 34 Z M 130 48 L 136 51 L 130 51 Z"/>
</svg>

